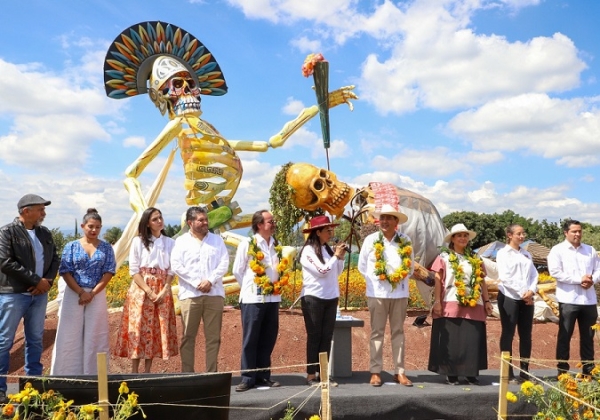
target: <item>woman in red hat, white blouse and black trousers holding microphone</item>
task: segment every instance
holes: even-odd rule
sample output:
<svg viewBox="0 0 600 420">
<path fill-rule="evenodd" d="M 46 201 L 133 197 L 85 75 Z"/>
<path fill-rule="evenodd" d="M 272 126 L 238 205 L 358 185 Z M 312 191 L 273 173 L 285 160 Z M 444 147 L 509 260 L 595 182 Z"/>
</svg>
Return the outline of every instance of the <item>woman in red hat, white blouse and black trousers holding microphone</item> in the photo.
<svg viewBox="0 0 600 420">
<path fill-rule="evenodd" d="M 302 265 L 302 315 L 306 326 L 306 359 L 309 385 L 319 382 L 317 368 L 319 353 L 329 352 L 340 296 L 338 276 L 344 270 L 346 246 L 335 251 L 327 244 L 333 237 L 333 228 L 327 216 L 315 216 L 304 230 L 308 238 L 300 251 Z"/>
</svg>

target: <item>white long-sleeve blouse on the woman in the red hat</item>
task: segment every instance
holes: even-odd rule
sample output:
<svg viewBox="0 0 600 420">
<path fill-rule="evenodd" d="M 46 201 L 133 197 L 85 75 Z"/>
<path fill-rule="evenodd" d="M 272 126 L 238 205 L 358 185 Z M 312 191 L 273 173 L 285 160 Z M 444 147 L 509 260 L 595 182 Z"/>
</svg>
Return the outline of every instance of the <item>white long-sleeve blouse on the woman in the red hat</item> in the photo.
<svg viewBox="0 0 600 420">
<path fill-rule="evenodd" d="M 338 277 L 344 270 L 344 260 L 335 255 L 331 257 L 325 247 L 321 247 L 323 264 L 312 246 L 304 247 L 300 257 L 302 265 L 302 292 L 301 296 L 315 296 L 320 299 L 335 299 L 340 296 Z"/>
</svg>

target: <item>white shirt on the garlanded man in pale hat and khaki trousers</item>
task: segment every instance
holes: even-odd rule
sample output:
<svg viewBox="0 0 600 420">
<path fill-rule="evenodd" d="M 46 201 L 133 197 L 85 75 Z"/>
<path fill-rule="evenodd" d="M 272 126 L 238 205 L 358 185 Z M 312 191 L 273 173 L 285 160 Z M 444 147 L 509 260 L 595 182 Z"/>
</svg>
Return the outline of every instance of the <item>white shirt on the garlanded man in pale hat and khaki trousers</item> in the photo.
<svg viewBox="0 0 600 420">
<path fill-rule="evenodd" d="M 396 232 L 396 235 L 401 236 L 410 241 L 410 238 L 404 233 Z M 394 237 L 395 238 L 395 237 Z M 383 237 L 383 255 L 387 265 L 388 274 L 392 273 L 402 264 L 400 256 L 398 255 L 398 244 L 392 238 L 388 241 L 386 237 Z M 405 298 L 408 297 L 408 279 L 412 276 L 414 267 L 411 264 L 408 275 L 396 285 L 396 288 L 392 290 L 392 285 L 387 280 L 379 280 L 375 275 L 375 251 L 373 250 L 373 242 L 379 239 L 379 231 L 367 236 L 363 242 L 363 246 L 360 249 L 358 256 L 358 271 L 364 276 L 367 284 L 367 297 L 373 298 Z M 411 253 L 410 259 L 414 261 L 414 253 Z"/>
</svg>

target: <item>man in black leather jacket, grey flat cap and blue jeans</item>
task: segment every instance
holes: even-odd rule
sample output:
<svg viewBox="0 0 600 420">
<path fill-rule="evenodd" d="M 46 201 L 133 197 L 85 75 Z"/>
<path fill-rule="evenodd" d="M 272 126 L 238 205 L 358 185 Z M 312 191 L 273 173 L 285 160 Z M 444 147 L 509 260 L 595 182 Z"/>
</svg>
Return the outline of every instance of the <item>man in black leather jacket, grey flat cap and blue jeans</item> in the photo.
<svg viewBox="0 0 600 420">
<path fill-rule="evenodd" d="M 19 322 L 25 329 L 25 374 L 42 374 L 42 337 L 48 290 L 59 259 L 50 231 L 41 226 L 50 201 L 23 196 L 19 217 L 0 228 L 0 404 L 6 403 L 6 375 Z"/>
</svg>

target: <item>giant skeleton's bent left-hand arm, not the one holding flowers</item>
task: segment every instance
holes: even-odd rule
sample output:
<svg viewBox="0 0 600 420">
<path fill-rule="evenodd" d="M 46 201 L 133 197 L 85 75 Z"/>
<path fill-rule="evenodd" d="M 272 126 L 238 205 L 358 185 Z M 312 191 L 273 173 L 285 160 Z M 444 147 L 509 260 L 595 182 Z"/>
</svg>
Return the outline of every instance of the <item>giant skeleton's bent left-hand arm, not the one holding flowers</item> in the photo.
<svg viewBox="0 0 600 420">
<path fill-rule="evenodd" d="M 142 152 L 142 154 L 125 170 L 124 184 L 129 192 L 129 204 L 138 214 L 141 214 L 146 208 L 147 203 L 142 193 L 142 188 L 138 177 L 152 162 L 156 156 L 173 140 L 181 131 L 181 118 L 177 117 L 169 121 L 163 131 L 154 139 L 154 141 Z"/>
</svg>

